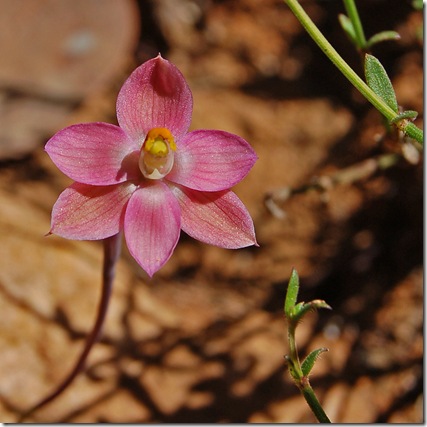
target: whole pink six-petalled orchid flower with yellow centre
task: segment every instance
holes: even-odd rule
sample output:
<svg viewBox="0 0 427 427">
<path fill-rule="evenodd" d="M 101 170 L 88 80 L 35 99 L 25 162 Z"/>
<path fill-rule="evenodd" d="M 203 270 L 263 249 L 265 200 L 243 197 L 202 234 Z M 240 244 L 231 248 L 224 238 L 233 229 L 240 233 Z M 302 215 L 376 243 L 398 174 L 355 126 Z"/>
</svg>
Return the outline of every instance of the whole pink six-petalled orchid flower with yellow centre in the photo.
<svg viewBox="0 0 427 427">
<path fill-rule="evenodd" d="M 50 233 L 98 240 L 124 231 L 149 276 L 170 258 L 181 229 L 222 248 L 257 245 L 252 219 L 230 191 L 257 156 L 237 135 L 188 132 L 192 109 L 183 75 L 159 55 L 121 88 L 119 126 L 83 123 L 56 133 L 46 151 L 75 182 L 53 206 Z"/>
</svg>

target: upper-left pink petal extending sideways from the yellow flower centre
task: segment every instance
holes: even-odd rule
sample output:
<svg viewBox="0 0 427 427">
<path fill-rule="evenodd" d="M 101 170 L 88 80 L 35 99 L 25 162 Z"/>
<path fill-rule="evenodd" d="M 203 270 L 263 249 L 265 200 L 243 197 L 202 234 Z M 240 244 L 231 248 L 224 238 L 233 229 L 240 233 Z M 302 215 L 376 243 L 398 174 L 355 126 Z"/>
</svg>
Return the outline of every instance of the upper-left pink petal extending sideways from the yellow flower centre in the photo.
<svg viewBox="0 0 427 427">
<path fill-rule="evenodd" d="M 138 146 L 118 126 L 83 123 L 56 133 L 45 149 L 58 168 L 84 184 L 110 185 L 133 177 Z"/>
</svg>

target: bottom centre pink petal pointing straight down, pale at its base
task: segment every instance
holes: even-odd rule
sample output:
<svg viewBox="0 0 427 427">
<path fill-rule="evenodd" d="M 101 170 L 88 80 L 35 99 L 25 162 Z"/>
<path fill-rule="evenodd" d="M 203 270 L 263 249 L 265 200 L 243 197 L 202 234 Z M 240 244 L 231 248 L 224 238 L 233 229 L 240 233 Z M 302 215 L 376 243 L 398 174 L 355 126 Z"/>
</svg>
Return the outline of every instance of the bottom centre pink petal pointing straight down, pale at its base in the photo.
<svg viewBox="0 0 427 427">
<path fill-rule="evenodd" d="M 181 228 L 179 203 L 162 182 L 132 195 L 125 215 L 129 252 L 151 277 L 172 255 Z"/>
</svg>

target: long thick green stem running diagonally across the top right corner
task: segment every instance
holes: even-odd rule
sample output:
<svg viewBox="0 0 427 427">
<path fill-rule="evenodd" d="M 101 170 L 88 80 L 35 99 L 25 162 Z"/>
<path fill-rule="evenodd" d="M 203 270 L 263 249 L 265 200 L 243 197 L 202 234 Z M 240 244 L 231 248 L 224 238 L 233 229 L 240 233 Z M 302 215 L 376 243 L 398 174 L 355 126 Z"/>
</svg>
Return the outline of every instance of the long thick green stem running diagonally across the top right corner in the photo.
<svg viewBox="0 0 427 427">
<path fill-rule="evenodd" d="M 298 0 L 284 0 L 292 10 L 301 25 L 311 36 L 314 42 L 320 47 L 331 62 L 341 71 L 342 74 L 353 84 L 353 86 L 389 121 L 396 118 L 396 113 L 384 100 L 379 97 L 344 61 L 334 47 L 326 40 L 324 35 L 316 27 L 314 22 L 307 15 L 305 10 L 298 3 Z M 394 123 L 401 131 L 407 133 L 411 138 L 423 144 L 423 132 L 412 122 L 404 119 Z M 407 129 L 408 128 L 408 129 Z M 416 128 L 416 129 L 414 129 Z"/>
</svg>

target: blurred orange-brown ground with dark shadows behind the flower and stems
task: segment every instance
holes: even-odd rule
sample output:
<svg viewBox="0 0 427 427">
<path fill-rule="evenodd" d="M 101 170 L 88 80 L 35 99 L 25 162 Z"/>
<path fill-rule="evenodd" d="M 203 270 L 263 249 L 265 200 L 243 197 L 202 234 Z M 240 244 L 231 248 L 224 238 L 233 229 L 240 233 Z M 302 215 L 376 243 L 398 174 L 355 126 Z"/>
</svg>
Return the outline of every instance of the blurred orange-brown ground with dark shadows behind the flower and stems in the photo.
<svg viewBox="0 0 427 427">
<path fill-rule="evenodd" d="M 362 74 L 342 2 L 302 3 Z M 401 34 L 373 54 L 422 126 L 422 13 L 409 0 L 357 4 L 368 37 Z M 152 280 L 124 249 L 87 370 L 29 421 L 312 422 L 283 359 L 295 267 L 300 299 L 333 307 L 297 331 L 302 355 L 330 350 L 311 381 L 332 421 L 421 422 L 422 161 L 266 208 L 272 191 L 402 150 L 279 0 L 0 1 L 0 422 L 71 369 L 100 293 L 102 244 L 44 237 L 70 181 L 43 146 L 72 123 L 114 123 L 122 82 L 158 52 L 193 90 L 192 128 L 237 133 L 257 152 L 235 190 L 260 247 L 182 235 Z"/>
</svg>

